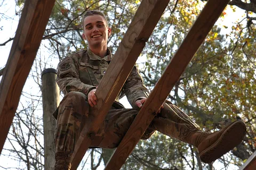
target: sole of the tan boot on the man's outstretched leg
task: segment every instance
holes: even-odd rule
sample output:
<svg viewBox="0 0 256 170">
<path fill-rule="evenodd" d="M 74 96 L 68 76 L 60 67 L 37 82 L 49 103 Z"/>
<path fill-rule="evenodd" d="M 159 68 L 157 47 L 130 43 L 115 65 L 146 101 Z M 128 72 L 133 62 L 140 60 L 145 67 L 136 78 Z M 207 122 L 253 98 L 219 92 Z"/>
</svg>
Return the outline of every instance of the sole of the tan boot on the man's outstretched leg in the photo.
<svg viewBox="0 0 256 170">
<path fill-rule="evenodd" d="M 239 145 L 242 142 L 245 134 L 245 123 L 243 121 L 234 122 L 228 129 L 226 129 L 226 131 L 222 133 L 219 140 L 199 154 L 200 159 L 204 163 L 212 163 L 214 160 L 220 158 L 222 155 Z"/>
</svg>

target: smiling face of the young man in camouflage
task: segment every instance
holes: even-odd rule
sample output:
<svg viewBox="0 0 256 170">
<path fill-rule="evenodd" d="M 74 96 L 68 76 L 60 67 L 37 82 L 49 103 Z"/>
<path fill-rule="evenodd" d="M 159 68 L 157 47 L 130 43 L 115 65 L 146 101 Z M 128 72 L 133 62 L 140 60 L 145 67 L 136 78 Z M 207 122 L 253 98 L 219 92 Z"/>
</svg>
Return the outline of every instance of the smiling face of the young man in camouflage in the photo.
<svg viewBox="0 0 256 170">
<path fill-rule="evenodd" d="M 111 34 L 111 29 L 107 28 L 107 24 L 103 16 L 90 15 L 84 19 L 83 39 L 86 39 L 89 48 L 106 48 L 108 36 Z"/>
</svg>

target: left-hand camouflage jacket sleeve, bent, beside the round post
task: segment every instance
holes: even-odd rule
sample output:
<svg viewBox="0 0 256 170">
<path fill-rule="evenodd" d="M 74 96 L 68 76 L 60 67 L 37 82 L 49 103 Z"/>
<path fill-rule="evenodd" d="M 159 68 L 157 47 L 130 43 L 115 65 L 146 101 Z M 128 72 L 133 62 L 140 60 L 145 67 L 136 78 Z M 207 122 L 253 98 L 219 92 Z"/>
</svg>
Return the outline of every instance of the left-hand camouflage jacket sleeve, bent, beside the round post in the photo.
<svg viewBox="0 0 256 170">
<path fill-rule="evenodd" d="M 89 91 L 96 88 L 89 84 L 81 82 L 79 79 L 79 61 L 77 56 L 71 55 L 64 58 L 58 64 L 57 72 L 57 84 L 63 94 L 67 94 L 70 91 L 79 91 L 87 95 Z"/>
</svg>

